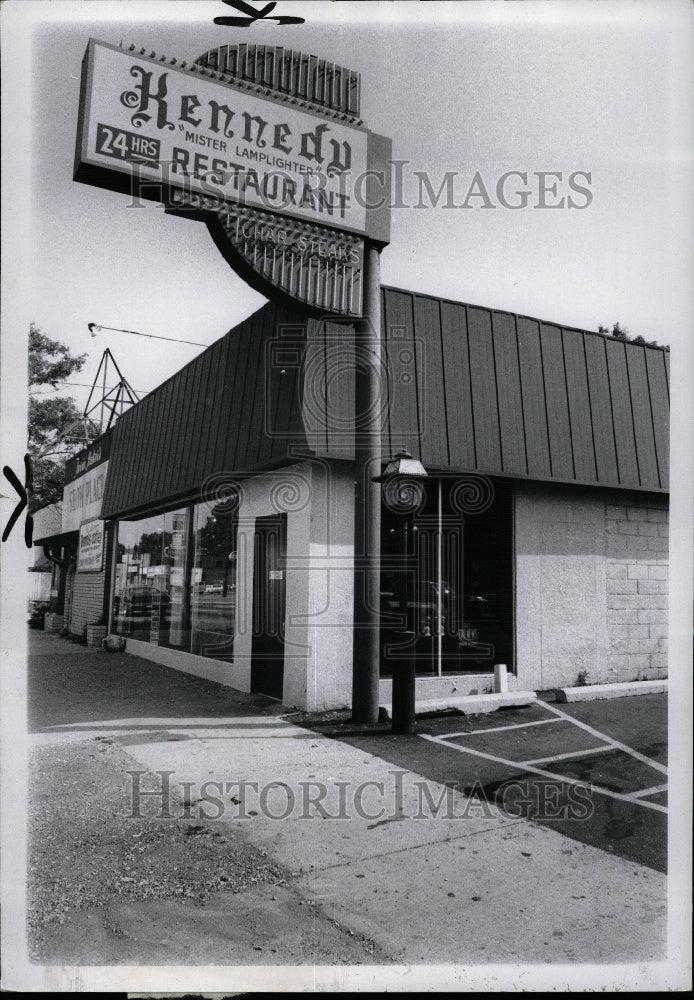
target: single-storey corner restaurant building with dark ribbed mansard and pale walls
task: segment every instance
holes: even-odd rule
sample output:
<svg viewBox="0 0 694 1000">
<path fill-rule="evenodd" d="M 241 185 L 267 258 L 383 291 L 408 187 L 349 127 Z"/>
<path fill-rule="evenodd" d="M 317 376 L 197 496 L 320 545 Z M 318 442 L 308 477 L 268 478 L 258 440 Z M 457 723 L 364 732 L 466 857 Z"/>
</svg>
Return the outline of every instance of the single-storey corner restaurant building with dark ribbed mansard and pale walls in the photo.
<svg viewBox="0 0 694 1000">
<path fill-rule="evenodd" d="M 382 703 L 404 649 L 420 700 L 496 663 L 511 690 L 664 676 L 668 350 L 394 288 L 381 309 L 383 458 L 428 473 L 409 524 L 383 507 Z M 123 414 L 71 622 L 102 587 L 130 652 L 349 706 L 354 365 L 349 321 L 270 302 Z"/>
</svg>

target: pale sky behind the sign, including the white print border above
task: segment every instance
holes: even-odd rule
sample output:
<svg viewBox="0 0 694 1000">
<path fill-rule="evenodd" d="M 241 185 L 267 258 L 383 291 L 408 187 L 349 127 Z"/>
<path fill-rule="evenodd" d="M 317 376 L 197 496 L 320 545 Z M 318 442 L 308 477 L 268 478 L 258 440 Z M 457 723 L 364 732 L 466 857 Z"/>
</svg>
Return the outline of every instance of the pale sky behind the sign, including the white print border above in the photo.
<svg viewBox="0 0 694 1000">
<path fill-rule="evenodd" d="M 128 208 L 126 196 L 72 180 L 89 37 L 187 60 L 218 44 L 283 44 L 356 69 L 366 125 L 391 137 L 393 157 L 407 161 L 410 207 L 392 212 L 384 283 L 584 329 L 617 321 L 673 346 L 690 336 L 691 5 L 283 6 L 300 10 L 306 24 L 219 27 L 212 18 L 228 10 L 206 0 L 9 0 L 21 10 L 12 20 L 5 8 L 5 35 L 10 23 L 30 52 L 28 92 L 17 80 L 11 116 L 3 116 L 4 134 L 25 147 L 28 232 L 10 254 L 10 267 L 23 256 L 26 298 L 5 336 L 23 336 L 19 324 L 28 320 L 88 352 L 75 378 L 87 384 L 109 347 L 143 393 L 201 348 L 107 331 L 93 338 L 89 322 L 211 344 L 265 301 L 202 223 L 153 203 Z M 22 103 L 28 117 L 17 114 Z M 495 207 L 473 197 L 467 208 L 417 209 L 417 171 L 435 189 L 453 172 L 455 204 L 479 173 Z M 528 174 L 527 207 L 499 204 L 495 187 L 507 171 Z M 574 198 L 585 207 L 537 207 L 541 171 L 562 173 L 560 195 L 571 194 L 569 174 L 587 172 L 590 181 L 579 183 L 589 196 Z M 510 183 L 512 201 L 521 185 Z M 87 385 L 69 391 L 84 405 Z"/>
</svg>

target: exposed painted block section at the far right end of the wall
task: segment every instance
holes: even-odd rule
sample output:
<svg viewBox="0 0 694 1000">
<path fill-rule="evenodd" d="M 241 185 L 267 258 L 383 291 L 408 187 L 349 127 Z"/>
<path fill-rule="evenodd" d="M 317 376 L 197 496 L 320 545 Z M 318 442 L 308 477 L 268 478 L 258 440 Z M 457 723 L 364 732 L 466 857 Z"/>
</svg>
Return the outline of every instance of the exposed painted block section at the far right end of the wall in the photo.
<svg viewBox="0 0 694 1000">
<path fill-rule="evenodd" d="M 667 509 L 653 501 L 610 503 L 605 518 L 608 662 L 634 678 L 665 677 Z"/>
</svg>

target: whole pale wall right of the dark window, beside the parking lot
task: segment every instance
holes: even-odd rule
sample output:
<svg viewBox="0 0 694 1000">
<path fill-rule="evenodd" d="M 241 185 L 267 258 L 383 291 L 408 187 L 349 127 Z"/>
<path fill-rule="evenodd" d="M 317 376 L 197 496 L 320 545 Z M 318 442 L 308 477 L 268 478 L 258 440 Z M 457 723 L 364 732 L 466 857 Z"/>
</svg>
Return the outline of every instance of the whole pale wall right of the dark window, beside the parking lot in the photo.
<svg viewBox="0 0 694 1000">
<path fill-rule="evenodd" d="M 518 686 L 667 671 L 667 498 L 517 483 Z"/>
</svg>

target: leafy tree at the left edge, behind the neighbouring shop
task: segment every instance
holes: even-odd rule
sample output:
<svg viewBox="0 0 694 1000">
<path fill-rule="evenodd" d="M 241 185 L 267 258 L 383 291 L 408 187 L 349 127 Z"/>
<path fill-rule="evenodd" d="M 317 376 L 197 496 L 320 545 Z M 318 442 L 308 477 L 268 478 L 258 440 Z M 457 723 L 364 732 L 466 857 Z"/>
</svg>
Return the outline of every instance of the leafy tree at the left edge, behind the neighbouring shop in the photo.
<svg viewBox="0 0 694 1000">
<path fill-rule="evenodd" d="M 29 328 L 29 387 L 60 387 L 74 372 L 82 370 L 86 354 L 73 355 L 69 347 L 41 333 L 35 323 Z M 29 399 L 28 451 L 34 472 L 31 510 L 62 498 L 65 460 L 83 448 L 98 433 L 98 426 L 83 420 L 71 396 Z"/>
</svg>

